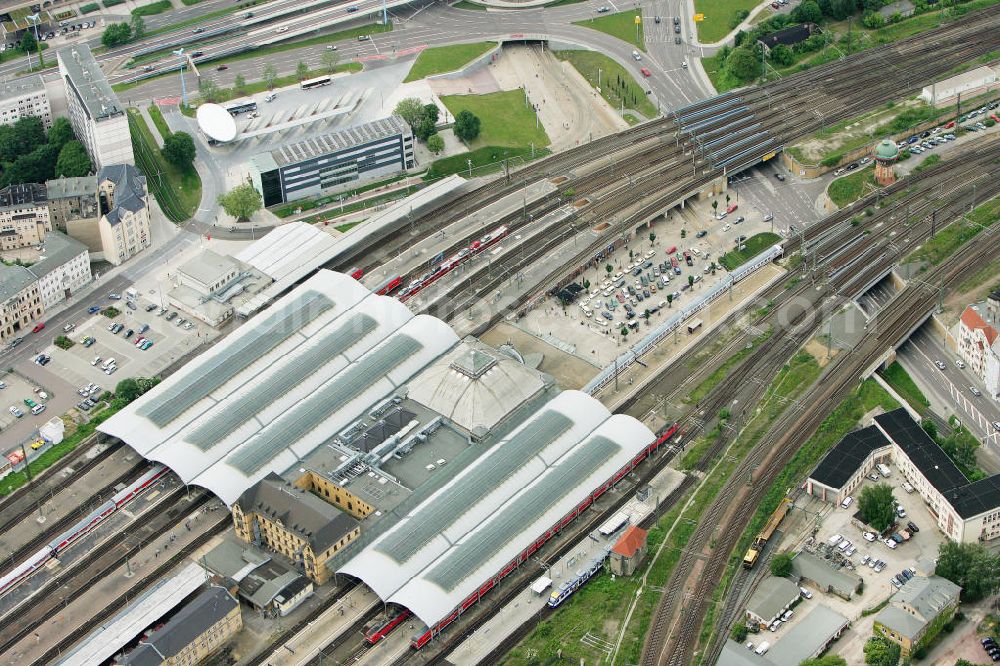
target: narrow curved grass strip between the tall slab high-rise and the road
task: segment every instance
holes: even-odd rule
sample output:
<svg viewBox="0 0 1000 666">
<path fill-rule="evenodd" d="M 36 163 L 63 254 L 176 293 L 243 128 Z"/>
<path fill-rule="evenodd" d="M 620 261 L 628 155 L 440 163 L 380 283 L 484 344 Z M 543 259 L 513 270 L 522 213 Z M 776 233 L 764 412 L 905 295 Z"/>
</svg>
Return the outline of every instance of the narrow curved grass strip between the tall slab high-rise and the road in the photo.
<svg viewBox="0 0 1000 666">
<path fill-rule="evenodd" d="M 146 176 L 150 192 L 164 214 L 173 222 L 187 220 L 201 203 L 201 178 L 192 166 L 180 170 L 160 153 L 153 133 L 138 109 L 128 110 L 128 128 L 136 166 Z"/>
</svg>

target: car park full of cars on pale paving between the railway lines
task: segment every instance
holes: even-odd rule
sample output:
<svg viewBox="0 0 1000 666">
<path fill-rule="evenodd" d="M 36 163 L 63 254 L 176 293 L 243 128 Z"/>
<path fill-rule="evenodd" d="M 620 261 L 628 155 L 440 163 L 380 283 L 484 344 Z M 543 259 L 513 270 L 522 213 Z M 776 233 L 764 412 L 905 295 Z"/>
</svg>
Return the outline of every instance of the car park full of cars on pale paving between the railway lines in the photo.
<svg viewBox="0 0 1000 666">
<path fill-rule="evenodd" d="M 721 215 L 726 210 L 725 195 L 716 200 Z M 684 209 L 671 210 L 652 226 L 642 227 L 628 246 L 577 277 L 576 282 L 588 288 L 575 303 L 563 307 L 554 297 L 546 299 L 520 325 L 595 365 L 612 362 L 678 307 L 723 279 L 726 270 L 717 262 L 737 237 L 771 231 L 770 221 L 764 221 L 766 212 L 736 204 L 733 197 L 729 205 L 738 207 L 719 220 L 711 201 L 690 201 Z"/>
</svg>

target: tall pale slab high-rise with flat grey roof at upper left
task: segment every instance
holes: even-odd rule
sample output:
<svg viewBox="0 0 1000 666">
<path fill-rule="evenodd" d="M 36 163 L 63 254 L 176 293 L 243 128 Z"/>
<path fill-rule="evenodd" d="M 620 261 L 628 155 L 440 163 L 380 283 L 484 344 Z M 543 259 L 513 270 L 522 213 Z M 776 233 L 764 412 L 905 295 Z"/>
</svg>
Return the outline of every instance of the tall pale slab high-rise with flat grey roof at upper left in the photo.
<svg viewBox="0 0 1000 666">
<path fill-rule="evenodd" d="M 109 164 L 135 164 L 128 117 L 86 44 L 66 46 L 56 53 L 59 76 L 66 88 L 69 120 L 87 147 L 96 169 Z"/>
</svg>

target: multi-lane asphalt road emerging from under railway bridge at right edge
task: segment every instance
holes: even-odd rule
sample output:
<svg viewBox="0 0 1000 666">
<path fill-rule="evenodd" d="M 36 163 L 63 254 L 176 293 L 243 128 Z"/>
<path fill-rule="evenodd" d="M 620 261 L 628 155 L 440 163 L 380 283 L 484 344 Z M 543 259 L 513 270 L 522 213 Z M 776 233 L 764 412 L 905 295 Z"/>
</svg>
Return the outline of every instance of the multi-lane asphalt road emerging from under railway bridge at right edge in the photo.
<svg viewBox="0 0 1000 666">
<path fill-rule="evenodd" d="M 951 414 L 958 417 L 976 437 L 985 440 L 991 457 L 1000 460 L 1000 432 L 992 425 L 1000 422 L 1000 404 L 986 396 L 983 382 L 968 367 L 958 367 L 958 356 L 944 349 L 940 336 L 922 327 L 899 350 L 898 358 L 935 411 L 944 418 Z M 943 362 L 944 370 L 938 369 L 935 361 Z M 983 395 L 973 395 L 970 386 Z"/>
</svg>

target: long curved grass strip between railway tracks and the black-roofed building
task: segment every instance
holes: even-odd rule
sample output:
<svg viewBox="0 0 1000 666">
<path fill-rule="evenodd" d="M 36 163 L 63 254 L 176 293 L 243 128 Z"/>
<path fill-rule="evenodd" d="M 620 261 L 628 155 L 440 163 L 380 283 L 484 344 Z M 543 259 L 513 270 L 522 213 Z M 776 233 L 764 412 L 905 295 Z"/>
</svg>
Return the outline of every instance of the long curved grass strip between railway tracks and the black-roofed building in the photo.
<svg viewBox="0 0 1000 666">
<path fill-rule="evenodd" d="M 733 574 L 743 562 L 743 555 L 746 553 L 747 548 L 750 547 L 750 543 L 757 533 L 760 532 L 767 519 L 774 513 L 774 510 L 778 507 L 778 503 L 787 495 L 788 489 L 797 487 L 820 459 L 837 442 L 843 439 L 844 435 L 852 430 L 856 430 L 865 413 L 875 407 L 881 407 L 888 411 L 899 407 L 899 403 L 893 400 L 892 396 L 879 386 L 875 380 L 866 379 L 861 383 L 861 386 L 823 420 L 816 433 L 806 440 L 806 443 L 795 452 L 795 455 L 792 456 L 792 459 L 768 488 L 767 493 L 757 506 L 757 511 L 754 513 L 753 518 L 750 519 L 746 531 L 733 549 L 722 582 L 712 596 L 713 600 L 721 601 L 724 592 L 732 580 Z M 714 604 L 710 608 L 715 609 L 717 606 L 718 604 Z M 702 624 L 701 641 L 703 644 L 711 639 L 711 633 L 714 628 L 713 617 L 712 615 L 706 616 L 705 622 Z M 728 627 L 725 629 L 728 630 Z"/>
</svg>

